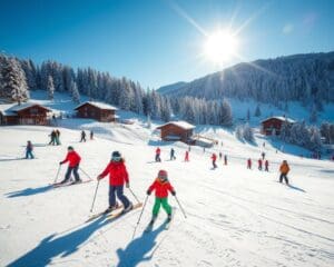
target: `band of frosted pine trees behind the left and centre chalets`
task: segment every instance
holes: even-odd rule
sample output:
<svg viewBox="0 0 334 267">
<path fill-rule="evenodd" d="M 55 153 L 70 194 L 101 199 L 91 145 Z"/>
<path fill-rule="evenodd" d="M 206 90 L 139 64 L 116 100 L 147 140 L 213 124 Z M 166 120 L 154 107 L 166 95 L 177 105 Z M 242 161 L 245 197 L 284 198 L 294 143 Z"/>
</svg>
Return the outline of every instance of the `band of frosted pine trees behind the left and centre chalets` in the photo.
<svg viewBox="0 0 334 267">
<path fill-rule="evenodd" d="M 0 53 L 0 98 L 24 101 L 29 91 L 46 90 L 48 98 L 55 92 L 68 92 L 73 102 L 80 95 L 132 111 L 168 121 L 173 116 L 193 123 L 230 126 L 232 108 L 226 100 L 206 101 L 196 98 L 170 98 L 156 90 L 144 90 L 138 82 L 115 78 L 92 68 L 72 69 L 47 60 L 40 66 L 32 60 L 21 60 Z"/>
</svg>

